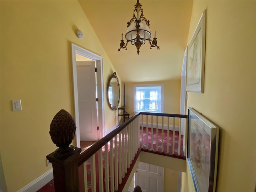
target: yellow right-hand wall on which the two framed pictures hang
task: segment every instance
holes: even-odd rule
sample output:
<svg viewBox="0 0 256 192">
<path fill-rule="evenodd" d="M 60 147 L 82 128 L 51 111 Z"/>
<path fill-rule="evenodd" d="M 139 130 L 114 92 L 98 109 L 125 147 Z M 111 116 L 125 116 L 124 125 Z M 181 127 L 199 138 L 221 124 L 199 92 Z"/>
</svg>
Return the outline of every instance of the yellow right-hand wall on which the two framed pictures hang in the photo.
<svg viewBox="0 0 256 192">
<path fill-rule="evenodd" d="M 220 127 L 217 191 L 254 191 L 256 1 L 194 1 L 188 43 L 204 9 L 204 94 L 188 92 L 187 106 Z M 187 166 L 182 191 L 192 188 Z"/>
</svg>

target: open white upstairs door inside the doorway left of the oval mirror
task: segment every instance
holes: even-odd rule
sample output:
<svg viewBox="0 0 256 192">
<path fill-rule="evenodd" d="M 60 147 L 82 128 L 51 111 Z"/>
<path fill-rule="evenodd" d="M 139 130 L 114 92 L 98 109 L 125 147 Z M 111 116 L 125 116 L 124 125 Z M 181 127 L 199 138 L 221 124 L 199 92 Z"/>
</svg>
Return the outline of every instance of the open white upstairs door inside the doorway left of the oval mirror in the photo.
<svg viewBox="0 0 256 192">
<path fill-rule="evenodd" d="M 81 141 L 98 140 L 95 61 L 77 61 L 78 113 Z"/>
</svg>

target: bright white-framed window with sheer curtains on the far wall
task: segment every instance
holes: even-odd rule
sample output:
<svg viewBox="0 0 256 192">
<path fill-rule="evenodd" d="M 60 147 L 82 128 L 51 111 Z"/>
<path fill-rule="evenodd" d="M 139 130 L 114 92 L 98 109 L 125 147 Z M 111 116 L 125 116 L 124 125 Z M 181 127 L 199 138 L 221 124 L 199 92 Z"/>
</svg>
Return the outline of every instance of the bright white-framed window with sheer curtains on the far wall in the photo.
<svg viewBox="0 0 256 192">
<path fill-rule="evenodd" d="M 134 85 L 134 111 L 162 113 L 164 84 Z"/>
</svg>

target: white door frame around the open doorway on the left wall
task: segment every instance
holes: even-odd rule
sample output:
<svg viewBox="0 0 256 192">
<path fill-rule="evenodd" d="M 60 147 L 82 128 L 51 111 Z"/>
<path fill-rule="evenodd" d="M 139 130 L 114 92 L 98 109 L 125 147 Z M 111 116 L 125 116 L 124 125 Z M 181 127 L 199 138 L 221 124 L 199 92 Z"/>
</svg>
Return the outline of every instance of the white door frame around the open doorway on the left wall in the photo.
<svg viewBox="0 0 256 192">
<path fill-rule="evenodd" d="M 76 146 L 80 148 L 80 126 L 79 126 L 79 112 L 78 112 L 78 88 L 77 88 L 77 74 L 76 74 L 76 54 L 90 58 L 95 61 L 97 74 L 96 74 L 96 91 L 98 97 L 98 138 L 104 136 L 104 86 L 103 86 L 103 63 L 102 57 L 94 54 L 76 44 L 71 43 L 72 49 L 72 74 L 73 74 L 73 89 L 74 89 L 74 112 L 76 122 Z"/>
</svg>

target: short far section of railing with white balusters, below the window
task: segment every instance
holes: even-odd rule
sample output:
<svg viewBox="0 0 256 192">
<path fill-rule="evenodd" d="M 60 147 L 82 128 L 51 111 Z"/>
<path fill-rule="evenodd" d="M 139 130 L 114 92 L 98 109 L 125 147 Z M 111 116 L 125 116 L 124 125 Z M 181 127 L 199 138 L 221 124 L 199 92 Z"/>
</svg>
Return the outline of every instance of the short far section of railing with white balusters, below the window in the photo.
<svg viewBox="0 0 256 192">
<path fill-rule="evenodd" d="M 140 148 L 144 151 L 186 159 L 187 118 L 187 115 L 182 114 L 140 112 L 142 135 L 146 135 L 146 140 L 141 137 Z M 164 141 L 164 134 L 167 135 L 168 141 Z"/>
</svg>

